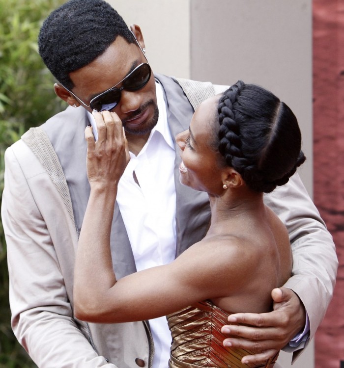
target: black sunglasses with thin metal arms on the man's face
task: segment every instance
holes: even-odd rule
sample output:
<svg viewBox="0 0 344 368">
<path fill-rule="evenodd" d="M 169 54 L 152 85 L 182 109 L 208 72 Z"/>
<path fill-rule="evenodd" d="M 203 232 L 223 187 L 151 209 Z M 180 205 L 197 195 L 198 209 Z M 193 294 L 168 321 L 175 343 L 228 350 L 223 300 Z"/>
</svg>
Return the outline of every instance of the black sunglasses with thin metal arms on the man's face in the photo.
<svg viewBox="0 0 344 368">
<path fill-rule="evenodd" d="M 82 102 L 83 105 L 85 105 L 86 107 L 90 107 L 92 110 L 112 110 L 118 105 L 120 101 L 122 89 L 130 92 L 138 91 L 148 83 L 151 74 L 152 70 L 150 69 L 148 63 L 141 63 L 124 79 L 116 83 L 114 87 L 111 87 L 110 89 L 102 92 L 100 95 L 92 98 L 92 100 L 89 102 L 89 105 L 86 105 L 85 102 L 80 100 L 80 98 L 76 96 L 73 92 L 68 92 L 70 92 L 74 97 Z M 117 88 L 116 85 L 120 83 L 122 83 L 122 86 L 120 88 Z"/>
</svg>

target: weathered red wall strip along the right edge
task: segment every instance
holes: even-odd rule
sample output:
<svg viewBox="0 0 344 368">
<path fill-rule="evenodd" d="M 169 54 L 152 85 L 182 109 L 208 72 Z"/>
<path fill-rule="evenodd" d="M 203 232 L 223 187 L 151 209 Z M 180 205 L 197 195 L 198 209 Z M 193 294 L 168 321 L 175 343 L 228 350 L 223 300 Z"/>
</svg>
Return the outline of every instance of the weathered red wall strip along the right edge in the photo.
<svg viewBox="0 0 344 368">
<path fill-rule="evenodd" d="M 314 201 L 340 262 L 334 297 L 315 335 L 315 367 L 344 361 L 344 1 L 313 0 Z"/>
</svg>

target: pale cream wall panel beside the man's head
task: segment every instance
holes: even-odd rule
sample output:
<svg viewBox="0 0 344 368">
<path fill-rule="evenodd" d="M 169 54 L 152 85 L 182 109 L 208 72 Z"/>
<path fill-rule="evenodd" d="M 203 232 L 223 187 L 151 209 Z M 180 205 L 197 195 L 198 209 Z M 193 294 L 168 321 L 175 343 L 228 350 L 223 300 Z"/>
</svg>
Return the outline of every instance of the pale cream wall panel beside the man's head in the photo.
<svg viewBox="0 0 344 368">
<path fill-rule="evenodd" d="M 128 26 L 141 27 L 155 73 L 190 78 L 189 0 L 108 0 Z"/>
</svg>

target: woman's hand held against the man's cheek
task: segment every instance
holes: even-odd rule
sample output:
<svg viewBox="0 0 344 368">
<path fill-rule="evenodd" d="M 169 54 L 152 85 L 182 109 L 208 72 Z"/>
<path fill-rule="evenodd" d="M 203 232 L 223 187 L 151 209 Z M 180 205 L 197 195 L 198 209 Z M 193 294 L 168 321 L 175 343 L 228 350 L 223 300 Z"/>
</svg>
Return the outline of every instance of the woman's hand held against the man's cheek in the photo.
<svg viewBox="0 0 344 368">
<path fill-rule="evenodd" d="M 92 112 L 97 123 L 98 140 L 94 141 L 92 128 L 86 127 L 87 178 L 89 184 L 117 186 L 130 155 L 122 122 L 115 112 Z"/>
</svg>

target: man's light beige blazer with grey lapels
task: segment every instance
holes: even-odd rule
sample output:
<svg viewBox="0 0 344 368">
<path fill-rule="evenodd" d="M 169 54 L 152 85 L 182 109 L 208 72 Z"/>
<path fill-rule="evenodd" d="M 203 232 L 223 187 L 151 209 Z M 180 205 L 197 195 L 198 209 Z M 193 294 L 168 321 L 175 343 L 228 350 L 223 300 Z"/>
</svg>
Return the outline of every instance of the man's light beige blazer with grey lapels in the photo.
<svg viewBox="0 0 344 368">
<path fill-rule="evenodd" d="M 171 106 L 174 103 L 179 107 L 178 99 L 185 103 L 185 96 L 172 79 L 159 76 L 159 80 L 165 89 L 174 136 L 188 127 L 190 111 L 182 121 L 183 110 L 173 110 Z M 43 127 L 51 134 L 57 158 L 63 162 L 72 210 L 66 207 L 66 192 L 61 189 L 64 184 L 58 173 L 48 172 L 23 140 L 6 151 L 1 215 L 7 242 L 13 331 L 40 368 L 135 368 L 143 364 L 150 367 L 154 348 L 147 323 L 86 324 L 73 316 L 75 249 L 88 198 L 84 161 L 80 161 L 78 152 L 82 151 L 80 157 L 86 152 L 82 140 L 87 123 L 82 109 L 68 107 Z M 62 139 L 64 134 L 69 137 L 68 142 Z M 70 147 L 78 149 L 71 153 Z M 177 157 L 175 165 L 178 165 Z M 76 188 L 82 189 L 77 191 Z M 203 227 L 190 243 L 203 236 L 209 210 L 204 197 L 197 194 L 190 200 L 189 192 L 183 192 L 178 186 L 176 191 L 178 255 L 188 246 L 183 240 L 188 238 L 186 220 L 190 218 L 187 208 L 183 207 L 187 206 L 185 202 L 195 205 L 200 217 L 205 213 L 200 219 Z M 266 195 L 265 201 L 287 225 L 294 266 L 293 276 L 286 286 L 304 303 L 312 338 L 335 284 L 338 261 L 332 237 L 297 175 L 287 185 Z M 116 270 L 119 268 L 123 276 L 135 268 L 132 269 L 132 264 L 128 266 L 132 263 L 132 254 L 127 247 L 120 213 L 115 214 L 114 221 L 116 235 L 123 244 L 121 253 L 119 248 L 115 249 Z M 191 225 L 197 227 L 196 223 Z"/>
</svg>

